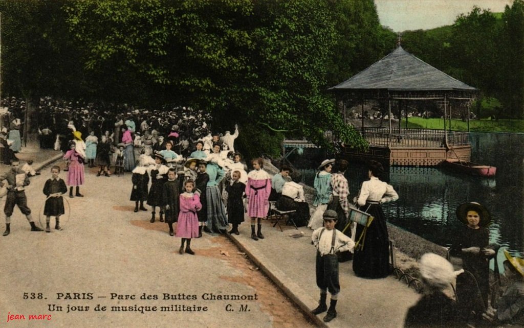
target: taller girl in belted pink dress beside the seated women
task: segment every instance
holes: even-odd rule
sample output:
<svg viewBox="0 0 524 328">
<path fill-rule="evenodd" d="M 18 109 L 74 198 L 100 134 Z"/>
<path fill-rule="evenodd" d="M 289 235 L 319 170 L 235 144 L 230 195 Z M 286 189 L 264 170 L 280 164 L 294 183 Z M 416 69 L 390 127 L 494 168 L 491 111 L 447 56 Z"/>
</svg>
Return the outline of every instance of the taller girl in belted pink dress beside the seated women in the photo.
<svg viewBox="0 0 524 328">
<path fill-rule="evenodd" d="M 267 216 L 269 210 L 269 194 L 271 193 L 271 177 L 264 171 L 261 158 L 252 161 L 253 171 L 247 175 L 246 197 L 247 214 L 251 217 L 251 237 L 253 240 L 264 239 L 260 232 L 261 220 Z M 258 219 L 258 222 L 257 222 Z M 255 223 L 258 232 L 255 234 Z"/>
</svg>

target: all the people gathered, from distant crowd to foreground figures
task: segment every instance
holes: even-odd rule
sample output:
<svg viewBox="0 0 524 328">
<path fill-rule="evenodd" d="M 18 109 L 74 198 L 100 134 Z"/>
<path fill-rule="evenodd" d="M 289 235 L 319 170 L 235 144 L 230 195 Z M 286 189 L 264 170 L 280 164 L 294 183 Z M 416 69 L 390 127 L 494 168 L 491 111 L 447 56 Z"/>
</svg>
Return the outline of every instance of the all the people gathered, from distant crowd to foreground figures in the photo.
<svg viewBox="0 0 524 328">
<path fill-rule="evenodd" d="M 71 104 L 48 98 L 42 99 L 40 106 L 49 114 L 40 127 L 42 146 L 52 144 L 54 149 L 63 150 L 67 161 L 64 170 L 67 179 L 62 180 L 60 167 L 53 166 L 43 188 L 46 232 L 50 232 L 51 217 L 56 218 L 54 228 L 61 229 L 62 195 L 68 187 L 69 197 L 84 197 L 80 186 L 85 182 L 85 165 L 98 167 L 96 175 L 106 177 L 111 176 L 113 166 L 114 173 L 132 173 L 129 199 L 135 203 L 134 212 L 149 211 L 146 205 L 150 206 L 149 221 L 154 223 L 158 210 L 158 219 L 168 224 L 169 235 L 181 239 L 180 254 L 195 254 L 191 241 L 202 237 L 202 232 L 239 234 L 238 226 L 246 214 L 250 218 L 250 237 L 254 241 L 265 239 L 261 220 L 270 214 L 269 203 L 279 210 L 292 211 L 294 223 L 313 230 L 320 300 L 312 313 L 327 312 L 325 322 L 336 317 L 339 262 L 353 259 L 355 275 L 367 279 L 384 278 L 392 272 L 388 229 L 381 205 L 396 201 L 399 196 L 391 185 L 380 180 L 384 167 L 377 161 L 369 162 L 369 179 L 352 200 L 344 175 L 348 162 L 327 159 L 320 163 L 314 179 L 315 209 L 310 216 L 303 186 L 299 184 L 300 175 L 291 167 L 281 165 L 280 172 L 271 177 L 264 170 L 264 161 L 255 159 L 250 161 L 252 170 L 247 173 L 242 155 L 234 148 L 237 126 L 233 134 L 211 133 L 210 117 L 185 107 L 167 111 L 125 107 L 121 114 L 114 114 L 105 107 L 89 104 L 75 104 L 73 109 Z M 6 142 L 20 138 L 16 133 L 19 118 L 15 114 L 9 120 L 13 129 L 1 133 Z M 17 142 L 6 145 L 16 154 L 19 149 L 13 149 L 13 144 Z M 35 225 L 27 207 L 24 188 L 29 185 L 28 175 L 21 174 L 16 156 L 10 159 L 10 164 L 11 169 L 0 176 L 0 181 L 7 182 L 2 183 L 7 189 L 3 235 L 10 233 L 15 205 L 25 214 L 31 231 L 43 231 Z M 354 210 L 368 214 L 372 220 L 365 225 L 355 224 L 351 215 Z M 488 263 L 498 246 L 488 244 L 486 227 L 490 213 L 478 203 L 465 203 L 457 208 L 456 214 L 464 228 L 457 233 L 450 255 L 462 259 L 463 270 L 455 272 L 438 255 L 424 255 L 420 259 L 420 273 L 426 293 L 409 310 L 406 326 L 460 325 L 473 319 L 482 320 L 482 315 L 494 306 Z M 232 229 L 227 231 L 230 224 Z M 524 260 L 505 254 L 504 267 L 511 285 L 498 301 L 497 316 L 500 322 L 524 323 Z M 455 279 L 458 303 L 442 292 Z"/>
</svg>

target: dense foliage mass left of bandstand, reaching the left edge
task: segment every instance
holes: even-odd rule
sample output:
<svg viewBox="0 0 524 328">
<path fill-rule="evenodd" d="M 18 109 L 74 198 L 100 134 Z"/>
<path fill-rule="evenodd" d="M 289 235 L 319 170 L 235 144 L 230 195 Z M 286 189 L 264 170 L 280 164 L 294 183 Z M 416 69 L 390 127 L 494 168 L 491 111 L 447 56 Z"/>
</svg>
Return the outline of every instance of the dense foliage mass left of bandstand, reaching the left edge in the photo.
<svg viewBox="0 0 524 328">
<path fill-rule="evenodd" d="M 2 39 L 3 47 L 13 47 L 3 48 L 9 58 L 27 40 L 74 50 L 66 62 L 45 67 L 39 67 L 43 53 L 53 54 L 46 60 L 62 57 L 29 49 L 27 66 L 6 61 L 3 87 L 9 94 L 179 103 L 212 112 L 214 129 L 238 122 L 268 137 L 306 137 L 322 145 L 329 145 L 323 138 L 329 129 L 348 144 L 365 146 L 326 89 L 394 48 L 372 0 L 7 0 L 0 9 L 7 35 L 23 31 L 18 39 Z M 25 19 L 41 13 L 50 21 Z M 51 27 L 59 33 L 47 32 Z M 57 66 L 63 74 L 51 73 Z M 11 83 L 16 70 L 30 78 Z M 42 74 L 33 75 L 35 70 Z M 46 81 L 50 76 L 53 81 Z M 264 146 L 262 152 L 274 153 Z"/>
</svg>

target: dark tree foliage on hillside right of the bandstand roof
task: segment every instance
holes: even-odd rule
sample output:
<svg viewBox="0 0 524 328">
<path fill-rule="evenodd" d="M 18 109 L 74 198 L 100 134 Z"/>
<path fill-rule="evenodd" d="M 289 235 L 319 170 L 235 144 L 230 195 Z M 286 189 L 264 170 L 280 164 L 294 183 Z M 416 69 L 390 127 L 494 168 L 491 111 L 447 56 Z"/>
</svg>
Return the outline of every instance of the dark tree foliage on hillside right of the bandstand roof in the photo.
<svg viewBox="0 0 524 328">
<path fill-rule="evenodd" d="M 402 40 L 422 60 L 481 89 L 481 97 L 499 99 L 498 117 L 524 118 L 523 0 L 506 6 L 502 15 L 474 7 L 452 26 L 407 31 Z"/>
</svg>

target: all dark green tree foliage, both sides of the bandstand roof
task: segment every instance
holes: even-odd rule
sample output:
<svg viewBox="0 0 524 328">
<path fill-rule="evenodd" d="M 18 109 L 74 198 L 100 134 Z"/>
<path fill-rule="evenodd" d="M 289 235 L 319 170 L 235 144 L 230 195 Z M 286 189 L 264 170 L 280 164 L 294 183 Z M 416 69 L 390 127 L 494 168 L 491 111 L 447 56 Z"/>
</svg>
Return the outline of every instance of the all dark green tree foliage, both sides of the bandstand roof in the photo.
<svg viewBox="0 0 524 328">
<path fill-rule="evenodd" d="M 519 117 L 523 7 L 501 19 L 474 8 L 403 45 Z M 0 12 L 4 95 L 191 106 L 211 112 L 215 130 L 238 123 L 253 155 L 277 155 L 284 136 L 330 146 L 325 130 L 365 147 L 326 89 L 396 39 L 373 0 L 4 0 Z"/>
</svg>

